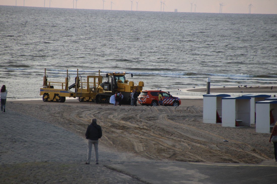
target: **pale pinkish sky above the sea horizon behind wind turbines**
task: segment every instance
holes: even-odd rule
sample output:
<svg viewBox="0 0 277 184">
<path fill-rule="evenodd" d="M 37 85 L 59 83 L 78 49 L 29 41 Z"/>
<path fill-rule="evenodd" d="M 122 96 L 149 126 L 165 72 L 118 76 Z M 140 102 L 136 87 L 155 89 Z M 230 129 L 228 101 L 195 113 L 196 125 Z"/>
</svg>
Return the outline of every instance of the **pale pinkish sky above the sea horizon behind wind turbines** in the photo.
<svg viewBox="0 0 277 184">
<path fill-rule="evenodd" d="M 50 2 L 52 8 L 73 8 L 73 1 L 76 8 L 76 0 L 0 0 L 0 5 L 49 7 Z M 105 10 L 111 10 L 111 1 L 112 10 L 219 13 L 223 3 L 222 13 L 248 14 L 252 4 L 252 14 L 277 14 L 277 0 L 104 0 Z M 77 9 L 103 9 L 103 0 L 77 0 Z"/>
</svg>

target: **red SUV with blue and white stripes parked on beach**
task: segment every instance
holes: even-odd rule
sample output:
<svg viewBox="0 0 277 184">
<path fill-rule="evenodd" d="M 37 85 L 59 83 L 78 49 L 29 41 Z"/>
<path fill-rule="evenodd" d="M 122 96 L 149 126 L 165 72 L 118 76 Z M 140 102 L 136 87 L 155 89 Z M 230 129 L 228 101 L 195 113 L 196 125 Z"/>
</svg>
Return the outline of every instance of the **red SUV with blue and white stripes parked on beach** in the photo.
<svg viewBox="0 0 277 184">
<path fill-rule="evenodd" d="M 145 90 L 142 91 L 139 95 L 138 101 L 142 105 L 151 105 L 158 106 L 158 93 L 163 96 L 163 104 L 165 106 L 179 106 L 181 105 L 181 99 L 178 97 L 174 97 L 171 94 L 166 93 L 165 91 L 159 90 Z"/>
</svg>

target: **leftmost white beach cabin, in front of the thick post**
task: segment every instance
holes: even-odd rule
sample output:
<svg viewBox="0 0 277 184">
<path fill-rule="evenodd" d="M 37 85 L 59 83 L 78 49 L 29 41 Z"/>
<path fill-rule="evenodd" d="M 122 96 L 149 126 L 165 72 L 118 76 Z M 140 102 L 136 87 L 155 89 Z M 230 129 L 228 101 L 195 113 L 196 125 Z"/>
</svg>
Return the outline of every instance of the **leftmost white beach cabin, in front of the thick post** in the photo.
<svg viewBox="0 0 277 184">
<path fill-rule="evenodd" d="M 221 123 L 222 97 L 229 94 L 204 94 L 203 95 L 203 123 Z"/>
</svg>

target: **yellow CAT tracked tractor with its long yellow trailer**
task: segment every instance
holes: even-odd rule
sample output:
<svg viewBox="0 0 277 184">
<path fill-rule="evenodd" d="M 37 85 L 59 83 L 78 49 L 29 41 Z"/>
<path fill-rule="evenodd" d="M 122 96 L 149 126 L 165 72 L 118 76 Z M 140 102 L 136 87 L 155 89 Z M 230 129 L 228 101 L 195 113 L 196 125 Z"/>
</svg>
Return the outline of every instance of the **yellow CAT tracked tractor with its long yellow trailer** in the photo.
<svg viewBox="0 0 277 184">
<path fill-rule="evenodd" d="M 66 97 L 78 98 L 80 102 L 96 102 L 96 103 L 109 103 L 109 99 L 115 92 L 121 92 L 123 95 L 122 103 L 130 102 L 130 94 L 133 90 L 138 93 L 142 91 L 144 83 L 139 82 L 139 85 L 135 86 L 133 81 L 128 81 L 125 78 L 127 73 L 106 73 L 105 82 L 100 75 L 91 75 L 86 77 L 86 82 L 82 82 L 81 75 L 78 74 L 75 77 L 75 82 L 68 86 L 70 76 L 68 70 L 66 70 L 65 82 L 51 82 L 48 81 L 48 75 L 46 69 L 44 69 L 43 85 L 40 88 L 40 95 L 44 102 L 65 102 Z M 131 74 L 133 77 L 133 74 Z M 91 82 L 90 82 L 91 81 Z M 54 88 L 55 86 L 55 88 Z M 57 88 L 57 86 L 60 86 Z M 71 91 L 72 88 L 75 90 Z"/>
</svg>

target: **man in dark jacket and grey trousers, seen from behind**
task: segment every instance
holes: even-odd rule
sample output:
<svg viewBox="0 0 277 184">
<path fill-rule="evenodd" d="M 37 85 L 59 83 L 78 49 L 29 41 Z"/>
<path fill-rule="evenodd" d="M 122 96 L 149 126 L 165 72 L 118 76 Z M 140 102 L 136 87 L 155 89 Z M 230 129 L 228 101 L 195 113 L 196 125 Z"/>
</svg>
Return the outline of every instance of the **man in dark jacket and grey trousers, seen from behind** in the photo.
<svg viewBox="0 0 277 184">
<path fill-rule="evenodd" d="M 91 120 L 86 130 L 86 139 L 88 140 L 88 157 L 85 164 L 89 164 L 91 158 L 91 148 L 94 146 L 95 163 L 98 164 L 98 139 L 102 137 L 102 130 L 100 125 L 97 125 L 96 118 Z"/>
</svg>

